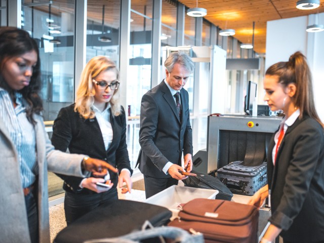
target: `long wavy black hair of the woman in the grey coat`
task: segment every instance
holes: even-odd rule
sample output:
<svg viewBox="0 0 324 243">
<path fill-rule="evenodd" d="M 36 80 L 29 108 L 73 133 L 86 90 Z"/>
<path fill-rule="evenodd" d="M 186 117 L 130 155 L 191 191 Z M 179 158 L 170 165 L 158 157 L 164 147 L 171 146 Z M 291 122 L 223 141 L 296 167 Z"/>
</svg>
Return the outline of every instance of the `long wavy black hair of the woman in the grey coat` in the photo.
<svg viewBox="0 0 324 243">
<path fill-rule="evenodd" d="M 38 46 L 25 30 L 16 27 L 0 27 L 0 87 L 6 89 L 9 93 L 12 93 L 13 90 L 3 77 L 4 64 L 9 58 L 18 57 L 30 51 L 37 53 L 37 63 L 33 68 L 29 85 L 17 92 L 20 92 L 28 102 L 29 105 L 26 107 L 27 118 L 34 123 L 32 115 L 34 113 L 40 114 L 43 110 L 42 99 L 38 95 L 41 89 L 41 62 Z"/>
</svg>

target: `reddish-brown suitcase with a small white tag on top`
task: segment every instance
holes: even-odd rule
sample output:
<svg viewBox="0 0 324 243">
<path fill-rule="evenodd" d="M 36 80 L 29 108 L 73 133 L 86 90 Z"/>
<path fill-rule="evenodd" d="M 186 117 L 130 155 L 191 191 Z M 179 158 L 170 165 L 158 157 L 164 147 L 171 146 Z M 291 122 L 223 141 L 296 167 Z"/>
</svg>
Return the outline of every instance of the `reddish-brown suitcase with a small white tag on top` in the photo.
<svg viewBox="0 0 324 243">
<path fill-rule="evenodd" d="M 259 210 L 220 199 L 197 198 L 182 207 L 169 226 L 204 234 L 205 242 L 254 243 L 258 240 Z"/>
</svg>

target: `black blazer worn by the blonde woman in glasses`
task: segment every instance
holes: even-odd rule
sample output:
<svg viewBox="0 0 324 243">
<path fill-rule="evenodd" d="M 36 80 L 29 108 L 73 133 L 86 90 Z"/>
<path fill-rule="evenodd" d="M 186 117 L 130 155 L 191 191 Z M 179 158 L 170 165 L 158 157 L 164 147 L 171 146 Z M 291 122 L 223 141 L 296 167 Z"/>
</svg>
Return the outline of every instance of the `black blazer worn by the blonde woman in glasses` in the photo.
<svg viewBox="0 0 324 243">
<path fill-rule="evenodd" d="M 110 165 L 122 169 L 133 170 L 130 166 L 130 159 L 126 144 L 126 116 L 124 108 L 118 116 L 110 113 L 110 123 L 113 130 L 113 139 L 108 148 L 105 149 L 102 133 L 95 118 L 85 119 L 74 111 L 74 104 L 62 108 L 58 117 L 54 121 L 52 144 L 56 149 L 70 153 L 83 153 L 93 158 L 107 161 Z M 115 173 L 110 173 L 113 187 L 117 186 L 118 177 Z M 86 188 L 79 187 L 83 178 L 59 175 L 63 180 L 63 188 L 66 191 L 82 194 L 96 193 Z"/>
</svg>

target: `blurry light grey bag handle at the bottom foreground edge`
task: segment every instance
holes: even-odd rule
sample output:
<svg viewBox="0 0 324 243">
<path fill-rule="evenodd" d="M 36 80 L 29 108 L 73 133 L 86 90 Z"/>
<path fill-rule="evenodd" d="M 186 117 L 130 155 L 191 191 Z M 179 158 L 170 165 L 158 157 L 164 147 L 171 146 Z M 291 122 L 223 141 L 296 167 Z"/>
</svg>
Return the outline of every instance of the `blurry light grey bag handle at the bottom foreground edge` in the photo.
<svg viewBox="0 0 324 243">
<path fill-rule="evenodd" d="M 147 224 L 145 221 L 144 225 Z M 149 223 L 150 224 L 150 223 Z M 153 237 L 163 236 L 166 238 L 172 238 L 176 242 L 180 243 L 204 243 L 204 236 L 201 233 L 190 230 L 193 234 L 190 234 L 184 229 L 165 226 L 165 227 L 156 227 L 151 229 L 142 229 L 135 231 L 129 234 L 121 235 L 119 237 L 113 238 L 101 238 L 101 239 L 91 239 L 86 240 L 84 243 L 138 243 L 141 239 L 149 239 Z M 162 242 L 164 242 L 164 239 Z"/>
</svg>

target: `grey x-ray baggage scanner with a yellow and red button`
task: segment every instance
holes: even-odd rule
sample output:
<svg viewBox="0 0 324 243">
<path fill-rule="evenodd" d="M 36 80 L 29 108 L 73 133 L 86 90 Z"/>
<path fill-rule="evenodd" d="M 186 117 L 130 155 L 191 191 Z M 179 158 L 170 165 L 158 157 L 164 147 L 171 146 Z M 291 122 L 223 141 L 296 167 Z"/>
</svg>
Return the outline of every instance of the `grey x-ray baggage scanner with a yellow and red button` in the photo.
<svg viewBox="0 0 324 243">
<path fill-rule="evenodd" d="M 210 115 L 207 148 L 193 156 L 193 170 L 209 173 L 232 161 L 265 159 L 281 120 L 278 116 Z"/>
</svg>

